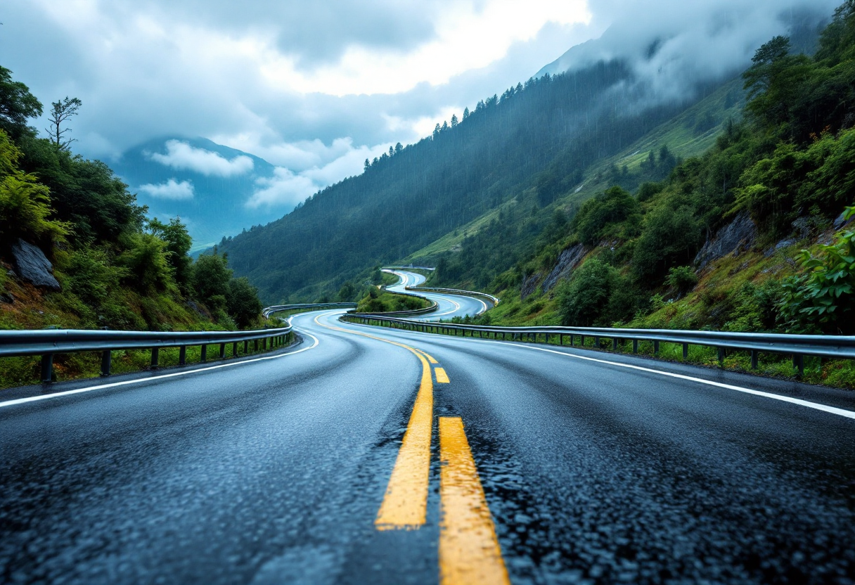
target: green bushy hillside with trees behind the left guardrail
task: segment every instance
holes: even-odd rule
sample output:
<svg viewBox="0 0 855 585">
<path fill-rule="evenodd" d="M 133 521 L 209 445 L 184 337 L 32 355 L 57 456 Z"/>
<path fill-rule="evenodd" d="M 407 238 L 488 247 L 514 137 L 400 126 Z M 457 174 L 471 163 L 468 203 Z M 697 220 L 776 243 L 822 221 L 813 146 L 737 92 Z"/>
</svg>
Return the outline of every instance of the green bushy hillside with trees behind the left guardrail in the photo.
<svg viewBox="0 0 855 585">
<path fill-rule="evenodd" d="M 260 322 L 261 304 L 216 252 L 193 262 L 179 221 L 146 209 L 103 162 L 72 151 L 82 106 L 43 106 L 0 68 L 0 328 L 221 329 Z"/>
</svg>

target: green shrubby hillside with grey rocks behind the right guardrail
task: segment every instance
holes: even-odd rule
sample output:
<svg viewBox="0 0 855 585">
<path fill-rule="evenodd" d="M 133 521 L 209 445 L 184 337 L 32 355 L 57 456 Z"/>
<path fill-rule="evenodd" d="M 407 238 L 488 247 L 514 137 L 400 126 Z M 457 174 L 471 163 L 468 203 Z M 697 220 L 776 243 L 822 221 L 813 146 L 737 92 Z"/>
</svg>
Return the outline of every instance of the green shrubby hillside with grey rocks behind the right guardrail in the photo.
<svg viewBox="0 0 855 585">
<path fill-rule="evenodd" d="M 855 334 L 855 2 L 815 55 L 773 38 L 742 81 L 742 115 L 702 156 L 613 168 L 581 207 L 544 210 L 522 256 L 486 253 L 517 237 L 499 214 L 433 282 L 507 267 L 486 283 L 504 300 L 492 322 Z"/>
</svg>

